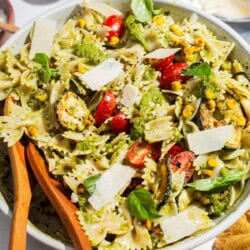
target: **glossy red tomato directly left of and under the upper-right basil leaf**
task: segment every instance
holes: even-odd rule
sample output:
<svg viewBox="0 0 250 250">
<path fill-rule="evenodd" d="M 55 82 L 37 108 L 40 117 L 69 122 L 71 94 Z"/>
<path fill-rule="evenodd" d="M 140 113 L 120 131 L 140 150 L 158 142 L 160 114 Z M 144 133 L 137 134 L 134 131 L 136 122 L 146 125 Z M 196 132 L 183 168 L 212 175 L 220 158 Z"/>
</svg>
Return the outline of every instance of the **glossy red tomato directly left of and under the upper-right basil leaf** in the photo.
<svg viewBox="0 0 250 250">
<path fill-rule="evenodd" d="M 167 89 L 171 86 L 173 81 L 185 81 L 187 76 L 183 76 L 182 72 L 188 67 L 186 63 L 174 63 L 161 72 L 160 87 Z"/>
</svg>

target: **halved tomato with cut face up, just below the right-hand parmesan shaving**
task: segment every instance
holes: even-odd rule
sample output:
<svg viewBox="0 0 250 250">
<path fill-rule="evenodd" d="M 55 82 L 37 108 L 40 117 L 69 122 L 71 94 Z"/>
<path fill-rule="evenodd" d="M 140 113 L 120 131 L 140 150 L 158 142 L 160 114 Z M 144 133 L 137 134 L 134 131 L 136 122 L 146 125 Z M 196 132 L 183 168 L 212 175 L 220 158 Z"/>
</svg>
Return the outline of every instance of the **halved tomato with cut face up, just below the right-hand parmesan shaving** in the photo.
<svg viewBox="0 0 250 250">
<path fill-rule="evenodd" d="M 193 161 L 195 155 L 190 151 L 183 151 L 170 160 L 170 168 L 173 172 L 185 172 L 185 183 L 188 182 L 194 174 Z"/>
</svg>

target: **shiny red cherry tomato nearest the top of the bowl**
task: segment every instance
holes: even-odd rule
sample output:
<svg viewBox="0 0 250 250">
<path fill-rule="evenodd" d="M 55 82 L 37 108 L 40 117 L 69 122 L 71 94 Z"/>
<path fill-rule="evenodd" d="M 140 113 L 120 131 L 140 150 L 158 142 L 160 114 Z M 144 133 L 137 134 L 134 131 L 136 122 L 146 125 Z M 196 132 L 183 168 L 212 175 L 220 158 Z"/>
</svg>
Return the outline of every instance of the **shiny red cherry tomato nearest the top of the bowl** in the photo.
<svg viewBox="0 0 250 250">
<path fill-rule="evenodd" d="M 120 37 L 123 31 L 123 20 L 121 17 L 112 15 L 109 16 L 103 23 L 105 26 L 111 28 L 109 34 L 107 35 L 108 40 L 110 40 L 113 36 Z"/>
</svg>

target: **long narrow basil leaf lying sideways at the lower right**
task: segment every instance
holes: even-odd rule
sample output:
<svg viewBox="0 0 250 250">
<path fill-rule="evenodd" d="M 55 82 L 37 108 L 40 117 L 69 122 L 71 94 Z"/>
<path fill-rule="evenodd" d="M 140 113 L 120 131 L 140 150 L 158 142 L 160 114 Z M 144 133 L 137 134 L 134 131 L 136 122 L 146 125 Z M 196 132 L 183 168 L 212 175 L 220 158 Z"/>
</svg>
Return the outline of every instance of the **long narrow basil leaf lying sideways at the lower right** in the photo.
<svg viewBox="0 0 250 250">
<path fill-rule="evenodd" d="M 223 177 L 212 177 L 208 179 L 197 180 L 195 182 L 186 184 L 186 186 L 199 191 L 222 191 L 240 181 L 245 174 L 245 171 L 232 170 Z"/>
</svg>

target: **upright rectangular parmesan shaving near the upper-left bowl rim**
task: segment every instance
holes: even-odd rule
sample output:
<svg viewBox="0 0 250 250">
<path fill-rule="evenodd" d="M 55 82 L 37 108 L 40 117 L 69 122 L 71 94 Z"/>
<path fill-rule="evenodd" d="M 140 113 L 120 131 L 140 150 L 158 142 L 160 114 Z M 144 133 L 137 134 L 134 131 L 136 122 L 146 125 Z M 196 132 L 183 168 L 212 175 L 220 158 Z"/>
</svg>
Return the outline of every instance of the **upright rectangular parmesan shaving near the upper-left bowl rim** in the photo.
<svg viewBox="0 0 250 250">
<path fill-rule="evenodd" d="M 56 22 L 53 20 L 36 21 L 34 34 L 31 41 L 29 58 L 32 60 L 36 53 L 51 56 L 53 38 L 56 34 Z"/>
</svg>

